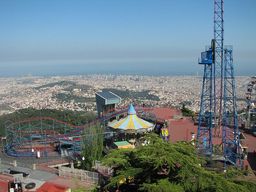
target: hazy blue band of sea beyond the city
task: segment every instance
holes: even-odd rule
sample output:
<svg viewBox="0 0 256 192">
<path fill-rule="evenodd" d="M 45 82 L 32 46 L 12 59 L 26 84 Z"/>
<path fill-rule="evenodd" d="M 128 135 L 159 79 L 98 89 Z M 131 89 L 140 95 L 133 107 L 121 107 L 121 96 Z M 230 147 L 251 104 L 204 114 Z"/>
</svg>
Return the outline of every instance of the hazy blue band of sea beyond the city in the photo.
<svg viewBox="0 0 256 192">
<path fill-rule="evenodd" d="M 122 64 L 46 64 L 46 65 L 1 65 L 0 77 L 28 76 L 70 76 L 87 74 L 140 75 L 140 76 L 199 76 L 204 74 L 204 66 L 197 63 L 122 63 Z M 254 65 L 234 66 L 235 76 L 253 76 Z"/>
</svg>

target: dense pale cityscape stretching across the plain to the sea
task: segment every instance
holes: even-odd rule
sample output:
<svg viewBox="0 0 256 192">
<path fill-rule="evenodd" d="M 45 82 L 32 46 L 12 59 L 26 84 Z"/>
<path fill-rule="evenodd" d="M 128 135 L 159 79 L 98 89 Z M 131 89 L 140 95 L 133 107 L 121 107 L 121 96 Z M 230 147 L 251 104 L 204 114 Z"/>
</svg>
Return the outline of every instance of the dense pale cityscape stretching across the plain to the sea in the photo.
<svg viewBox="0 0 256 192">
<path fill-rule="evenodd" d="M 151 99 L 139 97 L 134 102 L 153 106 L 169 104 L 173 108 L 180 108 L 182 103 L 185 103 L 192 111 L 199 112 L 202 80 L 202 76 L 114 76 L 111 74 L 53 77 L 32 77 L 29 74 L 28 77 L 0 78 L 0 115 L 12 113 L 21 108 L 97 111 L 95 92 L 101 92 L 102 89 L 148 91 L 148 94 L 154 95 L 155 98 L 154 96 Z M 51 86 L 52 83 L 61 81 L 89 86 L 72 90 L 66 89 L 72 86 L 72 83 Z M 244 99 L 246 85 L 249 82 L 250 76 L 236 76 L 238 110 L 246 108 Z M 39 88 L 42 85 L 45 86 Z M 79 96 L 79 100 L 56 97 L 56 95 L 63 94 Z M 122 98 L 120 106 L 127 104 L 130 99 L 129 96 Z"/>
</svg>

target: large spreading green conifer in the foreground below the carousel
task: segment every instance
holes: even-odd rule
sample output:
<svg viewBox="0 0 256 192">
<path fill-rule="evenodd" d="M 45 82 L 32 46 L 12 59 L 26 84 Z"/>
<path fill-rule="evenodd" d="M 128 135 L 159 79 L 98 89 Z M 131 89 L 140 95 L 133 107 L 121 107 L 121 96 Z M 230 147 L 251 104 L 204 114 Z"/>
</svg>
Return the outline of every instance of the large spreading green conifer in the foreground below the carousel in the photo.
<svg viewBox="0 0 256 192">
<path fill-rule="evenodd" d="M 243 177 L 242 171 L 230 169 L 217 173 L 206 170 L 206 157 L 196 155 L 191 142 L 163 142 L 150 134 L 147 146 L 115 149 L 103 157 L 103 164 L 114 167 L 107 187 L 125 191 L 256 191 L 256 184 Z"/>
</svg>

